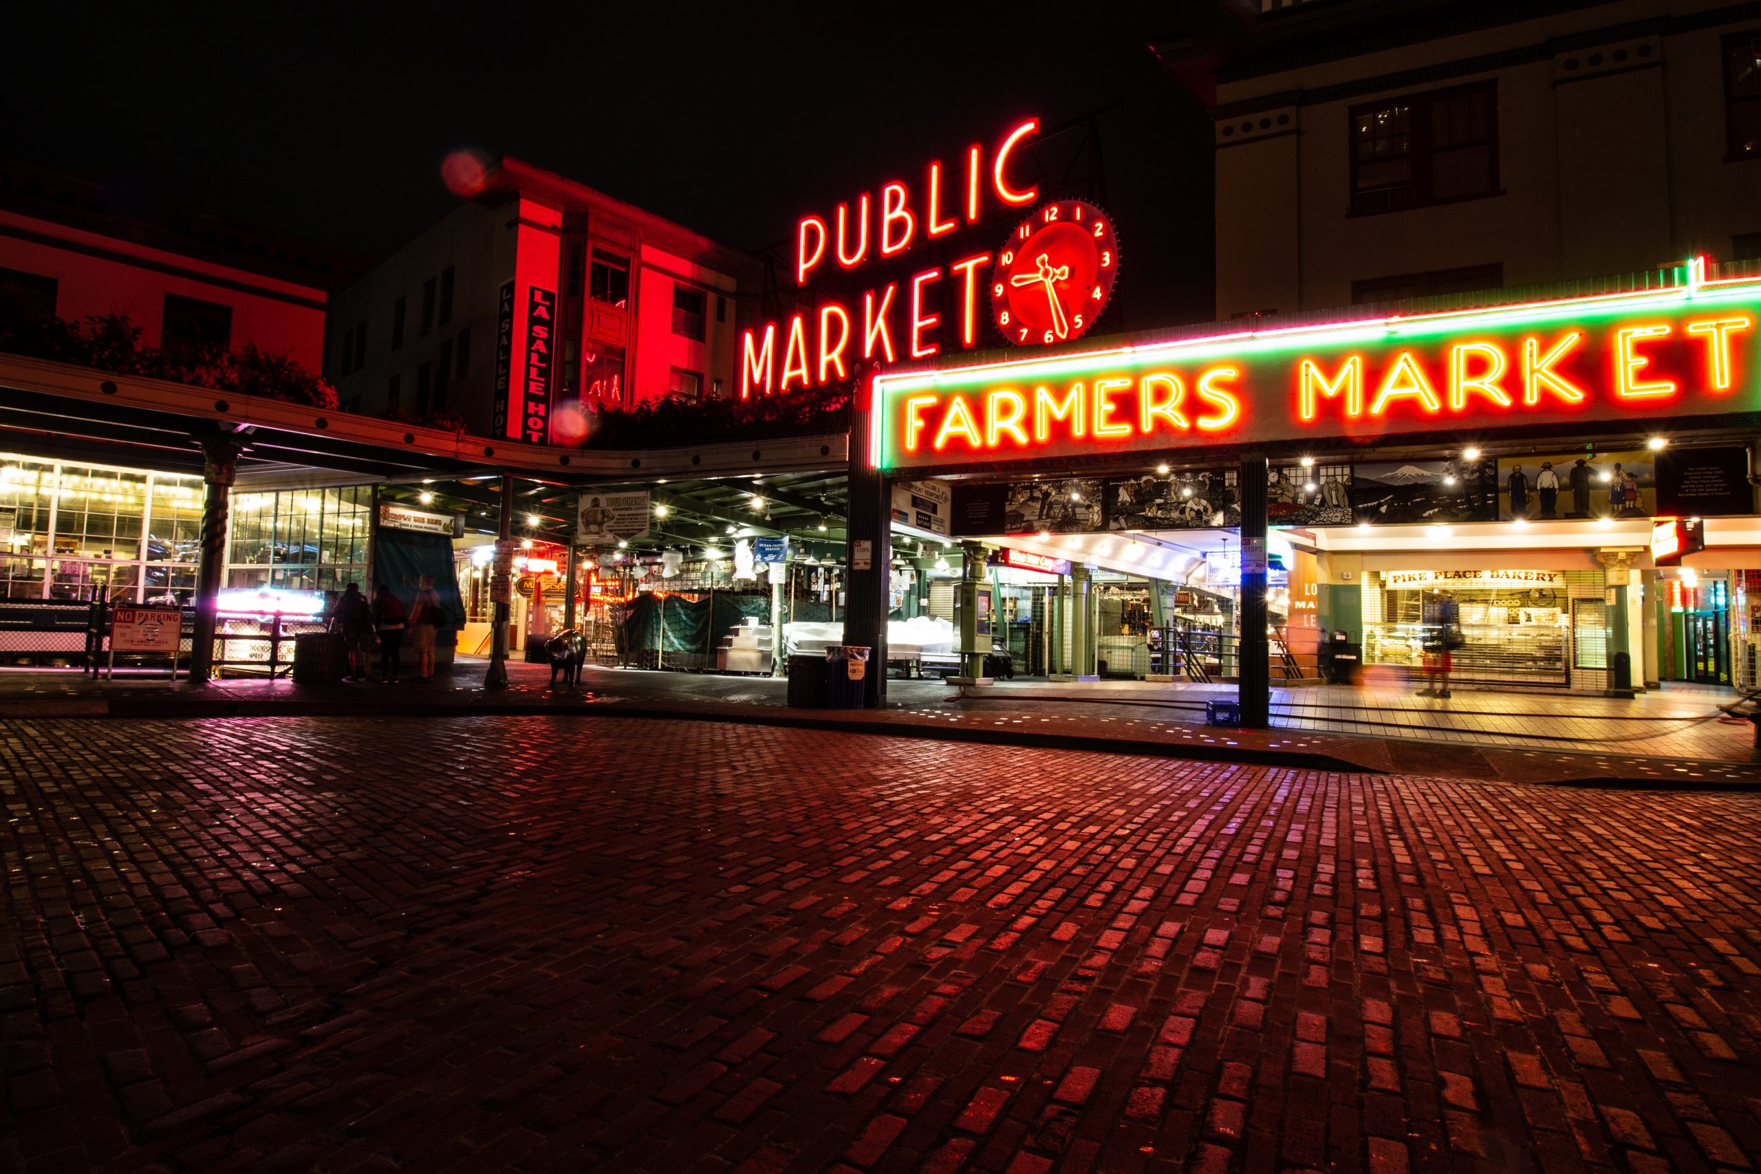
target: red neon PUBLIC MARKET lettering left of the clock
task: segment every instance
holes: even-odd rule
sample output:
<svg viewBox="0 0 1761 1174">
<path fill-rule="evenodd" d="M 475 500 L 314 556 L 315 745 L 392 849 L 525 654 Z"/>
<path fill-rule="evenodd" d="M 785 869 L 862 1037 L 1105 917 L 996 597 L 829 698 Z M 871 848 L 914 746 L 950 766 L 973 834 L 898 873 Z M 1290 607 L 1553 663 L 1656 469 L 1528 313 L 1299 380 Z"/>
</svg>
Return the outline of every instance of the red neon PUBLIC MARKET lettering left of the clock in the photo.
<svg viewBox="0 0 1761 1174">
<path fill-rule="evenodd" d="M 880 185 L 879 199 L 863 192 L 829 213 L 812 213 L 796 224 L 794 283 L 807 287 L 828 271 L 851 271 L 879 260 L 893 260 L 914 245 L 953 232 L 962 224 L 977 224 L 984 201 L 995 197 L 1004 208 L 1023 208 L 1039 199 L 1039 188 L 1016 188 L 1009 178 L 1011 157 L 1039 134 L 1039 120 L 1028 118 L 1009 130 L 986 160 L 984 148 L 972 144 L 963 164 L 933 160 L 923 176 L 914 202 L 903 180 Z M 977 317 L 984 312 L 983 275 L 991 253 L 960 257 L 909 280 L 888 282 L 863 292 L 861 305 L 822 301 L 810 313 L 794 313 L 782 322 L 748 329 L 740 343 L 740 398 L 768 396 L 782 391 L 815 387 L 849 378 L 859 359 L 930 359 L 940 354 L 942 313 L 926 308 L 942 296 L 940 310 L 960 315 L 962 347 L 974 347 L 981 336 Z M 937 282 L 951 287 L 935 290 Z M 944 292 L 946 290 L 946 292 Z"/>
</svg>

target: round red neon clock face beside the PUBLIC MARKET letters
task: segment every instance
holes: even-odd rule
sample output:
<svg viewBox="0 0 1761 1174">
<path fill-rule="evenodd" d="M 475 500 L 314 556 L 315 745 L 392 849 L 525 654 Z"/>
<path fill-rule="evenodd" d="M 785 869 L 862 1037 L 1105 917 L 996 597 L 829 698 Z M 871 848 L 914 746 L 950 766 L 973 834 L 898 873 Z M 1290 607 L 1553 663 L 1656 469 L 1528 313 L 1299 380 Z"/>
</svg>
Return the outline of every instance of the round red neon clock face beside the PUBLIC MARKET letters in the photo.
<svg viewBox="0 0 1761 1174">
<path fill-rule="evenodd" d="M 1099 208 L 1065 199 L 1016 225 L 991 268 L 991 317 L 1016 345 L 1079 338 L 1113 294 L 1118 241 Z"/>
</svg>

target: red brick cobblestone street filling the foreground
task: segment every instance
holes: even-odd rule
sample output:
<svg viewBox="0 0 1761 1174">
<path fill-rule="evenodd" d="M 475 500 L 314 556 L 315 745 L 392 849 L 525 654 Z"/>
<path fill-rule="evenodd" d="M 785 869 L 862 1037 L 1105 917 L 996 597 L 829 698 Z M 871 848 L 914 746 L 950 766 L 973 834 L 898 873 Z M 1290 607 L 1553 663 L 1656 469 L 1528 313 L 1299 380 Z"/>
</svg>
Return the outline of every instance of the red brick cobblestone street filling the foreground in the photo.
<svg viewBox="0 0 1761 1174">
<path fill-rule="evenodd" d="M 0 723 L 11 1170 L 1743 1170 L 1761 797 Z"/>
</svg>

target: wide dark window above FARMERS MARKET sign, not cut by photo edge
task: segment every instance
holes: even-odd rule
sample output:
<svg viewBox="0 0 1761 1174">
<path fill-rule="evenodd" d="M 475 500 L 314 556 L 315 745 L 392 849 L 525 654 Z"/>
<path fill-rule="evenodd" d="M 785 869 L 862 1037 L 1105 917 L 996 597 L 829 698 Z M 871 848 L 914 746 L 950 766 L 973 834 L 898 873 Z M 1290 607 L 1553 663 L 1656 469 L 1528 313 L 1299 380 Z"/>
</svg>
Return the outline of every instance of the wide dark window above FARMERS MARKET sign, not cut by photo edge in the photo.
<svg viewBox="0 0 1761 1174">
<path fill-rule="evenodd" d="M 1479 83 L 1354 106 L 1352 215 L 1495 195 L 1497 99 L 1492 83 Z"/>
</svg>

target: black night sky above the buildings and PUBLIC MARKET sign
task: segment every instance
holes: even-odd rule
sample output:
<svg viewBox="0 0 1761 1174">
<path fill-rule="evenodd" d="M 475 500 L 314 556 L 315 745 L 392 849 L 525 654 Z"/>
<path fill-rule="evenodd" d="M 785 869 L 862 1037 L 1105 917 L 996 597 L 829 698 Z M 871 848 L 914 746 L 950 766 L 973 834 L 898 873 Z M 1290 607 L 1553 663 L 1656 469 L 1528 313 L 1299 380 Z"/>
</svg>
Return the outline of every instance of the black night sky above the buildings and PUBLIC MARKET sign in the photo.
<svg viewBox="0 0 1761 1174">
<path fill-rule="evenodd" d="M 28 5 L 0 150 L 104 181 L 118 209 L 382 257 L 453 206 L 446 153 L 477 148 L 759 250 L 1021 116 L 1113 104 L 1111 329 L 1148 329 L 1212 317 L 1210 118 L 1145 48 L 1180 7 Z"/>
</svg>

